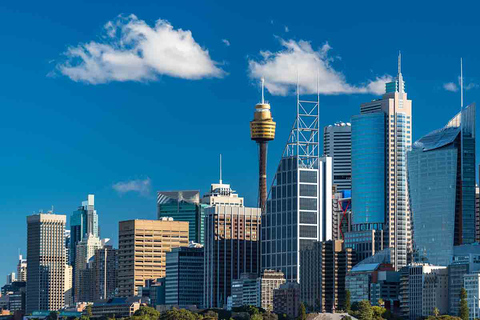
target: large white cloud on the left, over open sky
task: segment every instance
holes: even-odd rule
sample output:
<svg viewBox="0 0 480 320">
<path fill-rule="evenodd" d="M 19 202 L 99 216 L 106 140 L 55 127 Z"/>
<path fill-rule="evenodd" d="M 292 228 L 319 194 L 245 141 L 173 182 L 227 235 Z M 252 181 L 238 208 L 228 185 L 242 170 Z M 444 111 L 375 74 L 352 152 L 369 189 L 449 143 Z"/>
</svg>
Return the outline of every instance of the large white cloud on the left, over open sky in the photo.
<svg viewBox="0 0 480 320">
<path fill-rule="evenodd" d="M 103 42 L 69 47 L 57 69 L 73 81 L 148 81 L 167 75 L 183 79 L 222 77 L 207 49 L 189 30 L 174 29 L 166 20 L 153 27 L 135 15 L 118 17 L 104 26 Z"/>
</svg>

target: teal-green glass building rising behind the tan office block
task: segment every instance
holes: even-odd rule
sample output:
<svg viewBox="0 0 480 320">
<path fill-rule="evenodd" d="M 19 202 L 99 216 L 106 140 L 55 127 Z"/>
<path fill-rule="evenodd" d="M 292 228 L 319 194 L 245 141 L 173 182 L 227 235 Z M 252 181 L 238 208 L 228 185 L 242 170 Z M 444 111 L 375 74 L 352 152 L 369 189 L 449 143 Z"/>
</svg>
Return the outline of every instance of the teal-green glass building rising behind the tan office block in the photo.
<svg viewBox="0 0 480 320">
<path fill-rule="evenodd" d="M 200 203 L 199 191 L 157 192 L 157 217 L 187 221 L 190 240 L 203 244 L 205 206 Z"/>
</svg>

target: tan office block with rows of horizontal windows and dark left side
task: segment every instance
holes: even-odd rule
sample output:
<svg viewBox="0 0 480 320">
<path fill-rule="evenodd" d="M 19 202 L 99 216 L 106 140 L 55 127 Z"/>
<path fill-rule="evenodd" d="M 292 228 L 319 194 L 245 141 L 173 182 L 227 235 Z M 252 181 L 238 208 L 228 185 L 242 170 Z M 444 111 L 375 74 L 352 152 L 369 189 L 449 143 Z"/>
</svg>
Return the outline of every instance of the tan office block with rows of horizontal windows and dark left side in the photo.
<svg viewBox="0 0 480 320">
<path fill-rule="evenodd" d="M 146 280 L 165 277 L 166 253 L 186 246 L 188 222 L 172 218 L 120 221 L 117 296 L 136 296 Z"/>
</svg>

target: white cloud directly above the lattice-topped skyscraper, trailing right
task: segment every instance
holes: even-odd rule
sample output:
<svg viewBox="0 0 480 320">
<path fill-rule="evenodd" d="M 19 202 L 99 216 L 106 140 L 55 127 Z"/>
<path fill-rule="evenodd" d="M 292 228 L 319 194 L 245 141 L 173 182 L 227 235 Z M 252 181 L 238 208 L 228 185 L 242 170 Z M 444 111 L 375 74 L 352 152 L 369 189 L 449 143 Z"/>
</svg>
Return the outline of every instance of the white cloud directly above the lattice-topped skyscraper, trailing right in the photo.
<svg viewBox="0 0 480 320">
<path fill-rule="evenodd" d="M 314 50 L 308 41 L 280 39 L 283 49 L 278 52 L 261 51 L 260 61 L 249 60 L 252 78 L 265 78 L 265 87 L 273 95 L 287 95 L 295 92 L 297 75 L 300 93 L 317 92 L 317 74 L 321 94 L 353 94 L 385 92 L 385 83 L 392 81 L 389 75 L 376 77 L 361 85 L 347 83 L 345 76 L 336 71 L 329 56 L 331 47 L 325 43 Z"/>
</svg>

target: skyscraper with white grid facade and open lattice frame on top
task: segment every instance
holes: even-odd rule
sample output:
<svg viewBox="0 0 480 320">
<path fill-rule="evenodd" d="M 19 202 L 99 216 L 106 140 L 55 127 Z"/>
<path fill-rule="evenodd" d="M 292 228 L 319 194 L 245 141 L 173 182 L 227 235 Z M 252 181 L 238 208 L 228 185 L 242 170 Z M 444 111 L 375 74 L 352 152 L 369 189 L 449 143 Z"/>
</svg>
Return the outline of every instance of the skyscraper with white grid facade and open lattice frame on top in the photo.
<svg viewBox="0 0 480 320">
<path fill-rule="evenodd" d="M 332 239 L 332 158 L 319 157 L 319 100 L 300 100 L 262 214 L 262 270 L 300 281 L 300 251 Z"/>
</svg>

